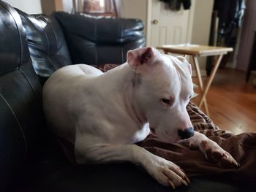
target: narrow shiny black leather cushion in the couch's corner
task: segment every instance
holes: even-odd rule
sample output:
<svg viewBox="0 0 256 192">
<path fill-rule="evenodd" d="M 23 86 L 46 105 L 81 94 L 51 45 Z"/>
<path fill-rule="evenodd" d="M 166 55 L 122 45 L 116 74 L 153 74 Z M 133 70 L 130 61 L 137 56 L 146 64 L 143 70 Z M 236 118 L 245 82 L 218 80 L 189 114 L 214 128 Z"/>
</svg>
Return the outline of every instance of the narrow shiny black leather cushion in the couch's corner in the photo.
<svg viewBox="0 0 256 192">
<path fill-rule="evenodd" d="M 18 10 L 26 29 L 29 51 L 39 77 L 50 77 L 56 69 L 72 64 L 64 34 L 56 18 L 28 15 Z"/>
</svg>

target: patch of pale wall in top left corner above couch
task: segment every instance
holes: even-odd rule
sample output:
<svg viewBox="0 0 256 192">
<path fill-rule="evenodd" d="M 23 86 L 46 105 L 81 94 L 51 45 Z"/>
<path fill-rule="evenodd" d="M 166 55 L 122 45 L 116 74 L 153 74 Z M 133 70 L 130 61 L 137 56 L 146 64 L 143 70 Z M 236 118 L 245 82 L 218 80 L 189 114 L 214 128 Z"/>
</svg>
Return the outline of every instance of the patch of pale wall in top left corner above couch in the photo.
<svg viewBox="0 0 256 192">
<path fill-rule="evenodd" d="M 42 13 L 41 0 L 3 0 L 12 7 L 18 8 L 23 12 L 34 14 Z"/>
</svg>

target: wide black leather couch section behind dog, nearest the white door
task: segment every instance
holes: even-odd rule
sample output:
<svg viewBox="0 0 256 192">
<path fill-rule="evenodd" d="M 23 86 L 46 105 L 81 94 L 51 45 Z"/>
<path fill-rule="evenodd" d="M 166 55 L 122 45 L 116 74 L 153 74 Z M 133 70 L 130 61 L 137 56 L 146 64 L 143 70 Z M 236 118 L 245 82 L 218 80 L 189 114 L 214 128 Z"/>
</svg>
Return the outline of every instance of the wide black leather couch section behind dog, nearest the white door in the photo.
<svg viewBox="0 0 256 192">
<path fill-rule="evenodd" d="M 128 50 L 145 45 L 143 23 L 137 19 L 53 15 L 64 31 L 73 64 L 123 64 Z"/>
</svg>

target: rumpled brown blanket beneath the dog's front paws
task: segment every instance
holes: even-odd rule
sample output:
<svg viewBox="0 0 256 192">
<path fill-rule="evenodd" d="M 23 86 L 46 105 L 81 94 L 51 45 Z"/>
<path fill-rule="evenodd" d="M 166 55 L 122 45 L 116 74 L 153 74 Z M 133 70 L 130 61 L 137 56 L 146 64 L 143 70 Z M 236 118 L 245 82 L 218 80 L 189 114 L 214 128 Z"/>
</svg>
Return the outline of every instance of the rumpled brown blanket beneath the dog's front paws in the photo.
<svg viewBox="0 0 256 192">
<path fill-rule="evenodd" d="M 241 164 L 239 168 L 230 169 L 211 164 L 206 161 L 200 150 L 191 150 L 181 144 L 160 142 L 153 134 L 138 145 L 181 166 L 189 177 L 200 174 L 218 175 L 233 181 L 256 182 L 256 134 L 244 133 L 235 136 L 227 131 L 221 131 L 194 104 L 190 103 L 187 110 L 195 130 L 206 134 L 209 139 L 233 155 Z"/>
</svg>

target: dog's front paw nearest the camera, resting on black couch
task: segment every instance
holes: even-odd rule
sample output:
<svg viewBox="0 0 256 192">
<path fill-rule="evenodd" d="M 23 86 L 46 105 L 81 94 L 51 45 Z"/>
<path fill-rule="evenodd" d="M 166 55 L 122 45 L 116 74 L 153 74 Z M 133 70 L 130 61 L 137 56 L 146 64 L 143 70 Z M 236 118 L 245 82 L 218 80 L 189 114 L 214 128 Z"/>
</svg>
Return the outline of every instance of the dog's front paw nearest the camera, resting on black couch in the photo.
<svg viewBox="0 0 256 192">
<path fill-rule="evenodd" d="M 179 166 L 156 155 L 148 158 L 145 168 L 152 177 L 167 187 L 175 189 L 177 186 L 190 183 L 186 174 Z"/>
</svg>

